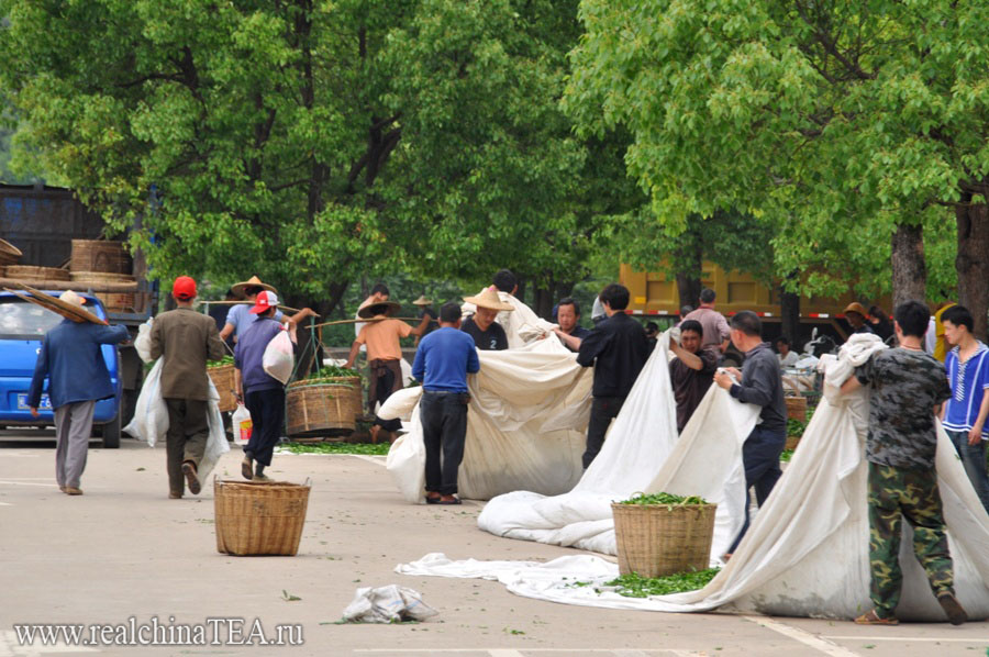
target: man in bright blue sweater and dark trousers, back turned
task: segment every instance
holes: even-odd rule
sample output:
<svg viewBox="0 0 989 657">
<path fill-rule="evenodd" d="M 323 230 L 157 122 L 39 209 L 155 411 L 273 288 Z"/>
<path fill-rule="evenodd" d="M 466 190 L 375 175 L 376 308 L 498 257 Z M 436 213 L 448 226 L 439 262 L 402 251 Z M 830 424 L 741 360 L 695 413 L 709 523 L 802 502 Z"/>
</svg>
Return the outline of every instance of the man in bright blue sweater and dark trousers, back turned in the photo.
<svg viewBox="0 0 989 657">
<path fill-rule="evenodd" d="M 444 303 L 440 328 L 422 338 L 412 364 L 412 376 L 422 381 L 419 414 L 426 453 L 427 504 L 460 503 L 457 470 L 467 437 L 467 375 L 478 370 L 474 338 L 460 331 L 460 307 Z"/>
</svg>

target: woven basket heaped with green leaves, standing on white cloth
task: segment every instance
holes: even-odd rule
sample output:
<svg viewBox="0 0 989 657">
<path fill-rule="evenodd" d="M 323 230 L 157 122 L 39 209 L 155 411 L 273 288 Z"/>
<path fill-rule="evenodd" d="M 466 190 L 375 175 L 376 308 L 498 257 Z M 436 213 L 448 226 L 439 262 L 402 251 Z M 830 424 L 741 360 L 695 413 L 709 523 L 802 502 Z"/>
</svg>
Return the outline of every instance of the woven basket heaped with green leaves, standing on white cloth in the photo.
<svg viewBox="0 0 989 657">
<path fill-rule="evenodd" d="M 703 570 L 716 504 L 612 504 L 619 571 L 642 577 Z"/>
</svg>

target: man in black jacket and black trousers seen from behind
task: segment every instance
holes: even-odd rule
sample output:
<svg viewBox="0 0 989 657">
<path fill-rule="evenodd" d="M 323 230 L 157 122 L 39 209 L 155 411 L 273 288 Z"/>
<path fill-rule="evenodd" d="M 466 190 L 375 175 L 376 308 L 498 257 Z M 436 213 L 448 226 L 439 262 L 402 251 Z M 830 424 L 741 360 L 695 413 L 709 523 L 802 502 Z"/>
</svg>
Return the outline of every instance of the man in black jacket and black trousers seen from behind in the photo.
<svg viewBox="0 0 989 657">
<path fill-rule="evenodd" d="M 612 283 L 601 291 L 601 303 L 608 319 L 598 324 L 580 343 L 577 363 L 594 366 L 590 422 L 587 425 L 587 450 L 584 467 L 590 466 L 601 446 L 611 421 L 622 409 L 632 385 L 649 357 L 649 344 L 642 324 L 625 314 L 629 290 Z"/>
</svg>

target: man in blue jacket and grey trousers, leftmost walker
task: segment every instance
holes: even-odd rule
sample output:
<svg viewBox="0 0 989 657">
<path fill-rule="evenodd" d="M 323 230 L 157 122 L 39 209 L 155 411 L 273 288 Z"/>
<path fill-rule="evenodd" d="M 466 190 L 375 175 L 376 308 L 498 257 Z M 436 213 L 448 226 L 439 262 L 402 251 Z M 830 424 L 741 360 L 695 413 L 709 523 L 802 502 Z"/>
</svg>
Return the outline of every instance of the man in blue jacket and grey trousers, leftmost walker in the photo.
<svg viewBox="0 0 989 657">
<path fill-rule="evenodd" d="M 64 292 L 60 299 L 79 307 L 86 302 L 71 290 Z M 79 485 L 86 469 L 92 412 L 97 401 L 115 393 L 100 346 L 125 339 L 125 326 L 64 320 L 48 331 L 42 343 L 27 392 L 27 405 L 31 414 L 37 417 L 47 377 L 48 398 L 55 409 L 55 480 L 66 494 L 82 494 Z"/>
</svg>

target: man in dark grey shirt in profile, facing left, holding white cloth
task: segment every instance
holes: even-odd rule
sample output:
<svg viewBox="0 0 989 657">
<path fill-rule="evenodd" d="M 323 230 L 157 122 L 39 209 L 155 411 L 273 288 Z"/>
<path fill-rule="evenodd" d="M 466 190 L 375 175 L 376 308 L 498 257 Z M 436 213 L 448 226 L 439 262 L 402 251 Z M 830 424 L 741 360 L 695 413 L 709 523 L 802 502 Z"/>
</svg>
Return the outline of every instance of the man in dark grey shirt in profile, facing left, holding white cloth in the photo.
<svg viewBox="0 0 989 657">
<path fill-rule="evenodd" d="M 779 455 L 787 444 L 787 402 L 784 399 L 779 360 L 769 343 L 763 342 L 762 331 L 759 316 L 751 310 L 743 310 L 732 316 L 732 344 L 745 354 L 745 363 L 741 372 L 730 367 L 726 371 L 731 376 L 721 371 L 714 375 L 714 382 L 732 397 L 763 408 L 759 423 L 745 438 L 742 447 L 742 463 L 745 467 L 745 524 L 725 556 L 735 550 L 748 531 L 748 489 L 755 487 L 756 500 L 762 506 L 782 475 Z M 741 383 L 733 382 L 732 377 L 741 380 Z"/>
</svg>

